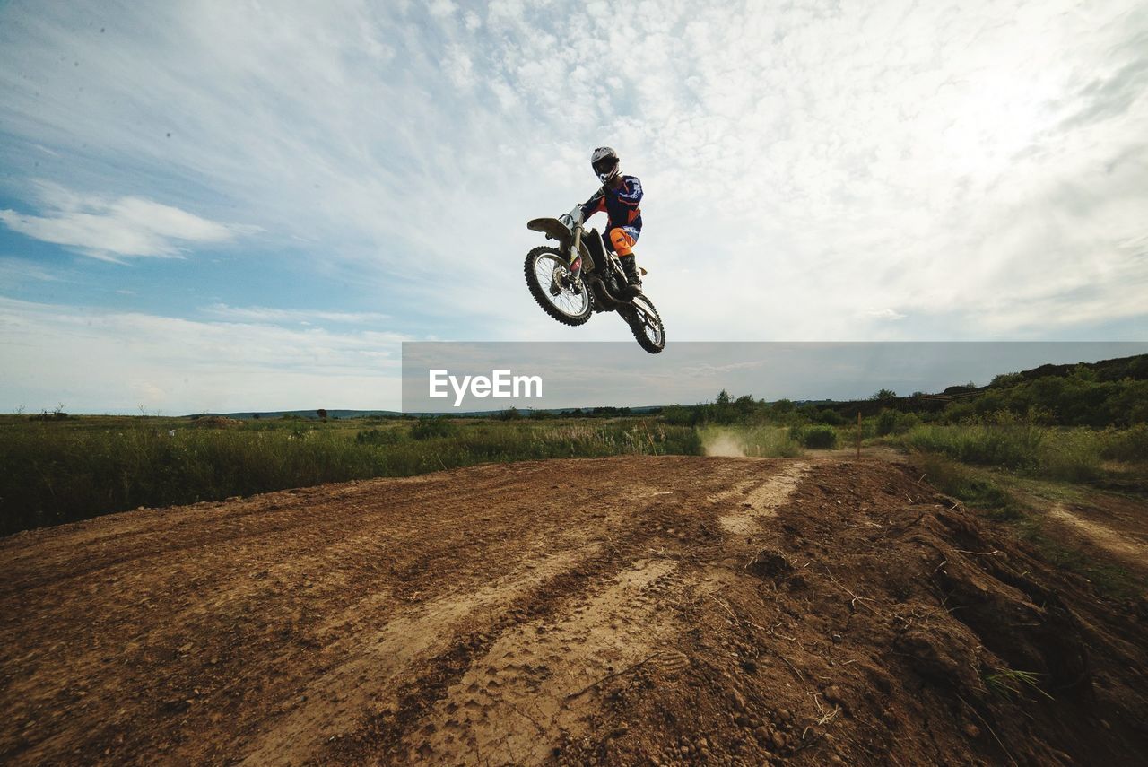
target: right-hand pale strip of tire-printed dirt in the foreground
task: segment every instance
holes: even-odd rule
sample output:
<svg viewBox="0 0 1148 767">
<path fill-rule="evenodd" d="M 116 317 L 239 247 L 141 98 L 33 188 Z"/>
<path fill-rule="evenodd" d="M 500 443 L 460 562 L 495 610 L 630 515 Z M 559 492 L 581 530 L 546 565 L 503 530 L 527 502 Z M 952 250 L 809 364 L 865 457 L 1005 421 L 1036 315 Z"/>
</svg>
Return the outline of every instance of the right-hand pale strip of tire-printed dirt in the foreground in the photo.
<svg viewBox="0 0 1148 767">
<path fill-rule="evenodd" d="M 537 764 L 560 735 L 580 735 L 595 681 L 649 659 L 680 628 L 665 609 L 684 588 L 677 570 L 669 559 L 638 560 L 557 621 L 505 633 L 408 737 L 408 759 Z"/>
</svg>

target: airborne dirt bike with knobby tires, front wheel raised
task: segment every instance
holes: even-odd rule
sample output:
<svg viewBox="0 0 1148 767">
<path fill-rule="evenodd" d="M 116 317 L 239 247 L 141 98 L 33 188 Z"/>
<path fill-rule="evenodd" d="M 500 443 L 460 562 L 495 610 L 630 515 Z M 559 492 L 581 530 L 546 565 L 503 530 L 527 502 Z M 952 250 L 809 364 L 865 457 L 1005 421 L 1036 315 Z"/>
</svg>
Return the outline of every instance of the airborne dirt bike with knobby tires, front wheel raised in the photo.
<svg viewBox="0 0 1148 767">
<path fill-rule="evenodd" d="M 616 311 L 643 349 L 658 354 L 666 348 L 653 302 L 642 293 L 628 295 L 622 264 L 606 251 L 597 230 L 585 232 L 577 223 L 567 227 L 557 218 L 535 218 L 526 227 L 558 241 L 557 248 L 526 254 L 526 284 L 544 312 L 564 325 L 583 325 L 595 312 Z"/>
</svg>

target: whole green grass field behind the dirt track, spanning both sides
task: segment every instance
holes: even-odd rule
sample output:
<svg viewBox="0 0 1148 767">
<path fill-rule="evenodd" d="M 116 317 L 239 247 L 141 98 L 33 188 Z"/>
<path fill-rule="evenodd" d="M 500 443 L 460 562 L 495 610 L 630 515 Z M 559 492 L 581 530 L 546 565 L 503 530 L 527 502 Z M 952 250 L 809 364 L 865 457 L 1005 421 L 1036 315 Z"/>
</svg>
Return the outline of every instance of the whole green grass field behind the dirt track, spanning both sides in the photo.
<svg viewBox="0 0 1148 767">
<path fill-rule="evenodd" d="M 864 444 L 915 452 L 945 491 L 998 519 L 1026 518 L 1010 482 L 1071 487 L 1148 477 L 1148 427 L 1039 426 L 1001 416 L 961 425 L 887 412 L 863 419 Z M 672 425 L 658 417 L 568 419 L 304 419 L 0 416 L 0 534 L 138 506 L 479 463 L 646 455 L 792 457 L 852 447 L 856 426 Z M 1030 533 L 1032 530 L 1030 529 Z"/>
</svg>

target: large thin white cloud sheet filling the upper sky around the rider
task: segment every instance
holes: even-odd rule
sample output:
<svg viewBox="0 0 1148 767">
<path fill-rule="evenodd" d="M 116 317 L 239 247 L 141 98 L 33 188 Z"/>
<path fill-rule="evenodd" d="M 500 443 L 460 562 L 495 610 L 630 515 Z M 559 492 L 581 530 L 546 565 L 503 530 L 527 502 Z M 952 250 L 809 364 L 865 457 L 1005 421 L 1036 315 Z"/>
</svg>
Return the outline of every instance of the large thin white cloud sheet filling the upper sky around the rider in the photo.
<svg viewBox="0 0 1148 767">
<path fill-rule="evenodd" d="M 155 3 L 101 11 L 107 34 L 67 3 L 9 6 L 0 118 L 61 155 L 36 153 L 54 178 L 220 237 L 256 224 L 263 248 L 410 286 L 456 338 L 625 338 L 550 321 L 519 273 L 541 243 L 525 220 L 590 194 L 600 144 L 643 179 L 637 253 L 672 341 L 1143 317 L 1125 300 L 1143 248 L 1124 247 L 1148 235 L 1142 3 L 416 5 Z M 187 242 L 80 212 L 100 220 L 17 226 L 121 256 Z"/>
</svg>

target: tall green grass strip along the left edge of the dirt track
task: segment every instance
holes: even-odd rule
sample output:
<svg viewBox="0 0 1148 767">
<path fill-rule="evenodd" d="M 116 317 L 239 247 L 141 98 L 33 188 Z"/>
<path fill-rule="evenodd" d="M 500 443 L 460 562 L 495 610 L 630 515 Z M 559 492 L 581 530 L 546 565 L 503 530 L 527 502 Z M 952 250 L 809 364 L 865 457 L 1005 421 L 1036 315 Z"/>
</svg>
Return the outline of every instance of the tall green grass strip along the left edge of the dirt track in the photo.
<svg viewBox="0 0 1148 767">
<path fill-rule="evenodd" d="M 692 428 L 645 420 L 450 426 L 441 436 L 426 428 L 412 435 L 418 425 L 356 431 L 308 423 L 178 428 L 169 435 L 156 419 L 134 426 L 119 420 L 110 428 L 6 424 L 0 431 L 0 534 L 137 506 L 484 462 L 701 451 Z"/>
</svg>

